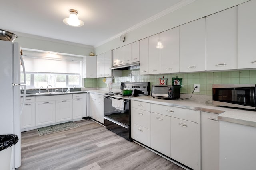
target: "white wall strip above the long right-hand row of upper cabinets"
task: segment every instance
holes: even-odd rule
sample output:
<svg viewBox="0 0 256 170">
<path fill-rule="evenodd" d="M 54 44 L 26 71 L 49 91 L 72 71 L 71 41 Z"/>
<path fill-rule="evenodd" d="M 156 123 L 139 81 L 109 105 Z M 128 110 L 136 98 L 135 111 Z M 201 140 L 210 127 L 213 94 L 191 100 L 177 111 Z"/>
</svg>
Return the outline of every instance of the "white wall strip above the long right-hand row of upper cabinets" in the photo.
<svg viewBox="0 0 256 170">
<path fill-rule="evenodd" d="M 94 49 L 95 54 L 98 55 L 108 50 L 116 49 L 134 41 L 138 41 L 204 16 L 214 14 L 246 1 L 248 0 L 196 0 L 174 12 L 166 14 L 157 20 L 135 29 L 134 31 L 126 33 L 126 41 L 124 43 L 121 42 L 119 38 L 116 38 L 104 45 L 96 47 Z"/>
</svg>

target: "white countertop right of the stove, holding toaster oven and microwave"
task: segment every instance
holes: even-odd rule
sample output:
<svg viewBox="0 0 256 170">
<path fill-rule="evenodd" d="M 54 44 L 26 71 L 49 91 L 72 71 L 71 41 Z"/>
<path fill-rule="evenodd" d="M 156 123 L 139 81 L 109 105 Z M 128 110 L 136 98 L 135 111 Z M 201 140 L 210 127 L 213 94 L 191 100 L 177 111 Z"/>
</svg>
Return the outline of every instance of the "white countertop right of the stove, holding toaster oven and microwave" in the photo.
<svg viewBox="0 0 256 170">
<path fill-rule="evenodd" d="M 239 123 L 242 125 L 249 125 L 249 126 L 256 127 L 256 111 L 220 107 L 220 106 L 202 103 L 202 102 L 198 102 L 196 100 L 190 100 L 190 99 L 164 100 L 164 99 L 152 98 L 151 96 L 141 96 L 141 97 L 131 98 L 131 100 L 216 113 L 216 114 L 219 114 L 218 119 L 221 121 L 228 121 L 232 123 Z"/>
</svg>

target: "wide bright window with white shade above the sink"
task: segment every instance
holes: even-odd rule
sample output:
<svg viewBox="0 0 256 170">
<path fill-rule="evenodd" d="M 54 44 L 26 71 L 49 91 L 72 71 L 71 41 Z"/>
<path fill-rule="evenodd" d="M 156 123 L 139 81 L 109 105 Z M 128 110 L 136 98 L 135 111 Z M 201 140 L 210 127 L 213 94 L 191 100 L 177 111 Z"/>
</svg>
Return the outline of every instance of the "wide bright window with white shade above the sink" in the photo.
<svg viewBox="0 0 256 170">
<path fill-rule="evenodd" d="M 28 53 L 28 54 L 27 54 Z M 40 88 L 52 85 L 54 88 L 81 87 L 81 57 L 57 56 L 48 57 L 45 53 L 23 51 L 26 68 L 27 88 Z M 23 82 L 21 69 L 21 82 Z"/>
</svg>

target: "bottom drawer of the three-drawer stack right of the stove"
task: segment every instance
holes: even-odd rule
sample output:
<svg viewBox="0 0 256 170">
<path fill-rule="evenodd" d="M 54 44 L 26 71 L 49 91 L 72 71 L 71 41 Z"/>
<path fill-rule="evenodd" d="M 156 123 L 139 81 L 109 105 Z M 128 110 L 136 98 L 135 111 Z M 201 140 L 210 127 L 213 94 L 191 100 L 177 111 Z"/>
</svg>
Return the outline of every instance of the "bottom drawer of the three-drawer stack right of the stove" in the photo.
<svg viewBox="0 0 256 170">
<path fill-rule="evenodd" d="M 140 143 L 150 147 L 150 130 L 132 123 L 131 125 L 131 137 Z"/>
</svg>

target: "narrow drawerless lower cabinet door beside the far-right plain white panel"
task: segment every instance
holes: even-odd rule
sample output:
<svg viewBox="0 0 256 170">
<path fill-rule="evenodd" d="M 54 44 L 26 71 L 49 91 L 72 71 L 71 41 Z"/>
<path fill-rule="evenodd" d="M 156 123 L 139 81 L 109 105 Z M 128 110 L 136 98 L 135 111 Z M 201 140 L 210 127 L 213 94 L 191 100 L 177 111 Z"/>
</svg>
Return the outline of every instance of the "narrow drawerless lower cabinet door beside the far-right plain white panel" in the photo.
<svg viewBox="0 0 256 170">
<path fill-rule="evenodd" d="M 219 169 L 218 114 L 201 112 L 201 169 Z"/>
</svg>

